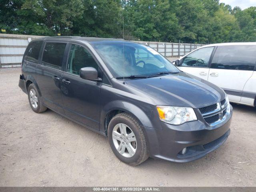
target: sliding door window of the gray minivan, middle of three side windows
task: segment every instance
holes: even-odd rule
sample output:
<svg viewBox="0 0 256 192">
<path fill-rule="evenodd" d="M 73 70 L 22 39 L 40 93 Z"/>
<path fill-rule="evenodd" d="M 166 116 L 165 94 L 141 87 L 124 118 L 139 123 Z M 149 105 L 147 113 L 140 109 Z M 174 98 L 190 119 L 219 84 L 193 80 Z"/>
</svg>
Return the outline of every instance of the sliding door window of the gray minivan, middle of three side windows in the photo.
<svg viewBox="0 0 256 192">
<path fill-rule="evenodd" d="M 66 43 L 46 43 L 42 64 L 55 69 L 61 69 Z"/>
</svg>

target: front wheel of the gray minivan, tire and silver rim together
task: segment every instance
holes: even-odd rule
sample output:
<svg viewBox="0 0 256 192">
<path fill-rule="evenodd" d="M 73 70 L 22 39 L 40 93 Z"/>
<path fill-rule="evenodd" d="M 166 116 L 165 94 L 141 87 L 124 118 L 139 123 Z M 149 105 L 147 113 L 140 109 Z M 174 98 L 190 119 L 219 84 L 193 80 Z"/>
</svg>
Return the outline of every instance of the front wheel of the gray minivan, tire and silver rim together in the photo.
<svg viewBox="0 0 256 192">
<path fill-rule="evenodd" d="M 128 113 L 114 116 L 108 125 L 108 142 L 116 157 L 136 166 L 148 159 L 145 134 L 139 122 Z"/>
</svg>

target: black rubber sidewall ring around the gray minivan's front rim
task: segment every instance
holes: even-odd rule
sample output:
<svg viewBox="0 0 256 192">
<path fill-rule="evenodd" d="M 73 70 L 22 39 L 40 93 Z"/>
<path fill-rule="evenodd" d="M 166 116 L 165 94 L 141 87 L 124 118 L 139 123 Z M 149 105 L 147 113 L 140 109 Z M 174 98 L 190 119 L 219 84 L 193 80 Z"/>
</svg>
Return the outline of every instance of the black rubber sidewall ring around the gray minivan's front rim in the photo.
<svg viewBox="0 0 256 192">
<path fill-rule="evenodd" d="M 114 146 L 113 140 L 112 140 L 112 131 L 114 129 L 114 126 L 118 123 L 123 123 L 126 124 L 133 132 L 136 137 L 136 145 L 137 145 L 137 150 L 134 154 L 134 156 L 127 158 L 122 156 L 117 150 L 116 147 Z M 141 156 L 142 156 L 142 140 L 140 138 L 140 133 L 138 131 L 138 126 L 130 119 L 126 118 L 126 116 L 115 116 L 112 118 L 108 125 L 108 142 L 110 144 L 110 147 L 114 154 L 116 155 L 117 158 L 119 158 L 122 162 L 125 162 L 127 164 L 131 164 L 134 162 L 137 162 Z"/>
</svg>

